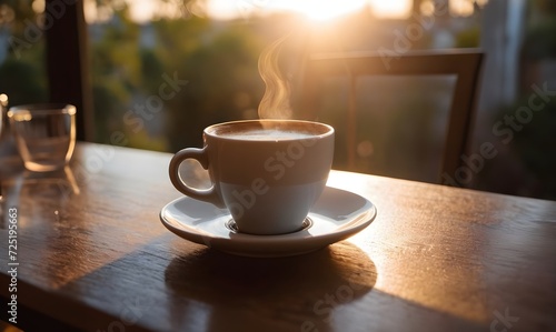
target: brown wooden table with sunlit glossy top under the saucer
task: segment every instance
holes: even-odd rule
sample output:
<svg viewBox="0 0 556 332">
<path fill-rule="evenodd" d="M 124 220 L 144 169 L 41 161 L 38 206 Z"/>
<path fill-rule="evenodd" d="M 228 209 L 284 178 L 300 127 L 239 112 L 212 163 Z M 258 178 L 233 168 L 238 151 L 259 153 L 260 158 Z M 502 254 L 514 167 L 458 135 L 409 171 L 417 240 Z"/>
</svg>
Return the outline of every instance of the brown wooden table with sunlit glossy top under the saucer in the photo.
<svg viewBox="0 0 556 332">
<path fill-rule="evenodd" d="M 171 154 L 79 143 L 67 172 L 3 172 L 29 331 L 555 331 L 556 202 L 332 171 L 378 209 L 363 232 L 251 259 L 178 238 Z M 9 173 L 9 175 L 7 175 Z M 42 179 L 38 179 L 42 178 Z M 11 318 L 2 305 L 2 320 Z"/>
</svg>

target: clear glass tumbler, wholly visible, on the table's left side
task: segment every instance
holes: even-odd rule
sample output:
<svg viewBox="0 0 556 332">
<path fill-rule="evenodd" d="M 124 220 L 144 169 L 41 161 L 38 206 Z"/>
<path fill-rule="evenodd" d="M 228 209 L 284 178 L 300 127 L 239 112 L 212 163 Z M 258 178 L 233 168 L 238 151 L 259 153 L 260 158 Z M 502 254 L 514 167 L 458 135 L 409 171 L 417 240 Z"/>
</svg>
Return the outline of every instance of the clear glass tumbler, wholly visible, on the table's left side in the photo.
<svg viewBox="0 0 556 332">
<path fill-rule="evenodd" d="M 76 147 L 76 107 L 26 104 L 8 111 L 26 169 L 48 172 L 63 168 Z"/>
</svg>

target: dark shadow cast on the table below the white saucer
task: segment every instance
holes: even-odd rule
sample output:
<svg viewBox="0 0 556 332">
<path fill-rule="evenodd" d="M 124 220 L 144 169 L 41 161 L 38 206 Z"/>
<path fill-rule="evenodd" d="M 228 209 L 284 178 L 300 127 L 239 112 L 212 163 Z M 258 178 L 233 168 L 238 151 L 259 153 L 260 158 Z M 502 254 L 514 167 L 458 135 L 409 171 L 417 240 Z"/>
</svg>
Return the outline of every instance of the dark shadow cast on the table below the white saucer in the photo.
<svg viewBox="0 0 556 332">
<path fill-rule="evenodd" d="M 334 312 L 370 292 L 377 271 L 368 255 L 339 242 L 305 255 L 255 259 L 205 249 L 173 259 L 165 272 L 175 296 L 175 330 L 195 312 L 207 331 L 330 329 Z M 304 328 L 305 329 L 305 328 Z M 301 329 L 302 330 L 302 329 Z"/>
</svg>

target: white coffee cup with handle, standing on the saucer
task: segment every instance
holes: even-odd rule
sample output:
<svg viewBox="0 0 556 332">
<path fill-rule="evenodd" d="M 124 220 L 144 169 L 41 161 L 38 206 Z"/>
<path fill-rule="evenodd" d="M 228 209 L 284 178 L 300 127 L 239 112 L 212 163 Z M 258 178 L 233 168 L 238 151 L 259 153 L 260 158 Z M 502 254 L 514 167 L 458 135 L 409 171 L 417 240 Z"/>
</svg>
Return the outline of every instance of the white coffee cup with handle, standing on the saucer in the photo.
<svg viewBox="0 0 556 332">
<path fill-rule="evenodd" d="M 241 233 L 269 235 L 302 228 L 326 187 L 334 157 L 334 129 L 298 120 L 248 120 L 210 125 L 205 147 L 177 152 L 170 180 L 180 192 L 227 208 Z M 210 189 L 189 187 L 179 165 L 196 159 Z"/>
</svg>

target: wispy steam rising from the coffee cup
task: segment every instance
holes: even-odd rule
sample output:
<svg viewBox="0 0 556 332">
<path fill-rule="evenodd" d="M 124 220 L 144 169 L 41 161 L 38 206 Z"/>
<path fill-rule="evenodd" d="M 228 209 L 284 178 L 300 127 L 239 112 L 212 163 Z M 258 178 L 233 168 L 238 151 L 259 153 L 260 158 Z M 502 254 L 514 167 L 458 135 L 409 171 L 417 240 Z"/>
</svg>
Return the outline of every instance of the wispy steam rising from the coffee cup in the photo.
<svg viewBox="0 0 556 332">
<path fill-rule="evenodd" d="M 291 119 L 292 115 L 289 104 L 289 83 L 278 63 L 280 47 L 287 38 L 288 34 L 272 42 L 259 58 L 259 73 L 266 84 L 265 94 L 259 103 L 260 119 Z"/>
</svg>

